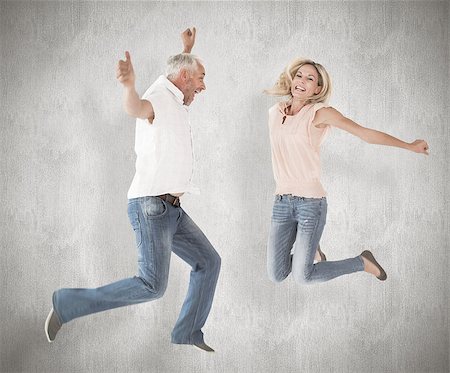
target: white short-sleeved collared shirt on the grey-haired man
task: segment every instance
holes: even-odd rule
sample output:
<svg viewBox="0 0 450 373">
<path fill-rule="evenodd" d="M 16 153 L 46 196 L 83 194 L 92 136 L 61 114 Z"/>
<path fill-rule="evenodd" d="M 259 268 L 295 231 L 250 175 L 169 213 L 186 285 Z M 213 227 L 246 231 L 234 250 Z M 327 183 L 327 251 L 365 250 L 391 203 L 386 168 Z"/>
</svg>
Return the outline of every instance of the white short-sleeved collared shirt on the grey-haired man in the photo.
<svg viewBox="0 0 450 373">
<path fill-rule="evenodd" d="M 197 192 L 191 183 L 193 151 L 188 107 L 181 92 L 160 76 L 144 93 L 155 118 L 136 119 L 136 173 L 128 198 Z"/>
</svg>

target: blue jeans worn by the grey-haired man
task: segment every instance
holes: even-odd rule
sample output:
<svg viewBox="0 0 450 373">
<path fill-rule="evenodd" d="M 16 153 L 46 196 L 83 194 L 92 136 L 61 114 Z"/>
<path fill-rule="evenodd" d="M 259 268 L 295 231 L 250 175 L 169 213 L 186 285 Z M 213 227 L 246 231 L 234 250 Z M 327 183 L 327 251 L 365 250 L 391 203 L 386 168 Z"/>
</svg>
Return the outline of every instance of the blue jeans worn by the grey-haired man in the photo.
<svg viewBox="0 0 450 373">
<path fill-rule="evenodd" d="M 181 207 L 158 197 L 128 201 L 136 235 L 139 275 L 96 289 L 60 289 L 53 308 L 62 323 L 76 317 L 162 297 L 173 251 L 191 267 L 189 289 L 172 332 L 172 343 L 203 342 L 201 328 L 211 309 L 220 256 Z"/>
</svg>

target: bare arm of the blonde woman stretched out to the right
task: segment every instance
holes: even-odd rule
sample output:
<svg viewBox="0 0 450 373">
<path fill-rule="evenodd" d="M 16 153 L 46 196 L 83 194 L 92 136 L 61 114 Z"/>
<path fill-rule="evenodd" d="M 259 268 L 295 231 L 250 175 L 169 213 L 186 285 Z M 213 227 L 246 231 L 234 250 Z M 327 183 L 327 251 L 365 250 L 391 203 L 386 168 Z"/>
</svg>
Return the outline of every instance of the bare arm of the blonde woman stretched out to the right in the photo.
<svg viewBox="0 0 450 373">
<path fill-rule="evenodd" d="M 423 153 L 428 155 L 428 144 L 425 140 L 415 140 L 407 143 L 387 133 L 363 127 L 351 119 L 342 115 L 339 111 L 332 107 L 322 108 L 317 111 L 313 124 L 316 127 L 323 125 L 331 125 L 359 137 L 361 140 L 369 144 L 395 146 L 411 150 L 415 153 Z"/>
</svg>

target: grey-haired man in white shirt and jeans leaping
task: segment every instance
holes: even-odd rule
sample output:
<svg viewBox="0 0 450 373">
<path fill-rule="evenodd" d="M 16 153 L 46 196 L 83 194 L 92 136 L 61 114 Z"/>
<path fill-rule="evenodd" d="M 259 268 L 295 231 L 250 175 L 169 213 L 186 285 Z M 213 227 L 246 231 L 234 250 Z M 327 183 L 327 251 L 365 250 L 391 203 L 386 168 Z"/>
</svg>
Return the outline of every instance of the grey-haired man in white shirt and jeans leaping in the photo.
<svg viewBox="0 0 450 373">
<path fill-rule="evenodd" d="M 192 191 L 192 145 L 188 106 L 206 89 L 205 68 L 190 54 L 195 28 L 182 33 L 184 52 L 170 57 L 142 99 L 135 89 L 129 52 L 119 61 L 117 79 L 124 86 L 125 111 L 136 119 L 136 173 L 128 191 L 128 216 L 136 235 L 139 275 L 97 289 L 60 289 L 45 332 L 52 342 L 70 320 L 116 307 L 160 298 L 167 287 L 173 251 L 191 265 L 189 289 L 172 343 L 214 351 L 203 340 L 220 270 L 220 257 L 202 231 L 180 206 Z"/>
</svg>

